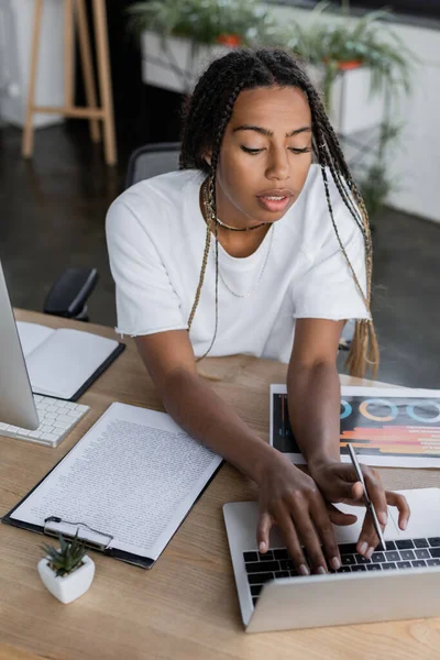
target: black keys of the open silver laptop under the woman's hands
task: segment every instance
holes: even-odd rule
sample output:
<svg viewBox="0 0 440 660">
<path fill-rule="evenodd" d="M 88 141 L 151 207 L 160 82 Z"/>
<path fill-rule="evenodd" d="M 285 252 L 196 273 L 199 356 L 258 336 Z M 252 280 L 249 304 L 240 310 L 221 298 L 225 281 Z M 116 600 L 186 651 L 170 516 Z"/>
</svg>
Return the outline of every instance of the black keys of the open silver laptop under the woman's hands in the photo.
<svg viewBox="0 0 440 660">
<path fill-rule="evenodd" d="M 440 566 L 440 537 L 386 541 L 386 550 L 373 552 L 371 559 L 358 554 L 356 543 L 340 543 L 339 551 L 342 565 L 338 571 L 330 570 L 330 573 Z M 243 552 L 243 559 L 254 605 L 265 582 L 301 576 L 286 548 L 267 550 L 264 554 L 251 550 Z"/>
</svg>

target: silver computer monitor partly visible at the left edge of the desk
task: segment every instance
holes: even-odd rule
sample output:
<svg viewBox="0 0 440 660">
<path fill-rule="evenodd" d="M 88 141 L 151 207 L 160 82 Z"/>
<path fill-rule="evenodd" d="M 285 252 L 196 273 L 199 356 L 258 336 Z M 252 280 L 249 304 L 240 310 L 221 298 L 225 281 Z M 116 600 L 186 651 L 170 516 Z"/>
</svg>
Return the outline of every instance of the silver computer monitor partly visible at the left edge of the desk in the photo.
<svg viewBox="0 0 440 660">
<path fill-rule="evenodd" d="M 30 430 L 40 425 L 1 262 L 0 421 Z"/>
</svg>

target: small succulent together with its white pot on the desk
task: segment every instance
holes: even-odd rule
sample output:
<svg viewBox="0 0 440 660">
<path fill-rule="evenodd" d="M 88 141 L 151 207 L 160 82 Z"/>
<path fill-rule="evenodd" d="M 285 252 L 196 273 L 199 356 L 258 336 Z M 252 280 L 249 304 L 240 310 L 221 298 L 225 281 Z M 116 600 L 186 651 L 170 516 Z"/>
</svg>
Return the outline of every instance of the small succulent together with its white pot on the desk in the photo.
<svg viewBox="0 0 440 660">
<path fill-rule="evenodd" d="M 86 554 L 78 532 L 72 542 L 58 534 L 59 549 L 44 543 L 46 557 L 40 560 L 40 576 L 53 596 L 62 603 L 72 603 L 89 588 L 95 575 L 95 562 Z"/>
</svg>

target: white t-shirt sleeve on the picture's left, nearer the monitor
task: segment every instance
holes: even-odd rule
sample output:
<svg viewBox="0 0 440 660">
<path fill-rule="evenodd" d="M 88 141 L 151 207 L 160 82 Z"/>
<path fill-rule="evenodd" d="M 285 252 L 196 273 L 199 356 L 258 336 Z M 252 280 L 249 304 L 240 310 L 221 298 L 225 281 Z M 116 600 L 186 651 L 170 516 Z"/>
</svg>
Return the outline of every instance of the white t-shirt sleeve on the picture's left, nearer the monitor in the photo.
<svg viewBox="0 0 440 660">
<path fill-rule="evenodd" d="M 148 207 L 142 212 L 148 213 Z M 136 337 L 187 329 L 179 298 L 136 209 L 121 198 L 113 201 L 106 233 L 116 283 L 117 332 Z"/>
</svg>

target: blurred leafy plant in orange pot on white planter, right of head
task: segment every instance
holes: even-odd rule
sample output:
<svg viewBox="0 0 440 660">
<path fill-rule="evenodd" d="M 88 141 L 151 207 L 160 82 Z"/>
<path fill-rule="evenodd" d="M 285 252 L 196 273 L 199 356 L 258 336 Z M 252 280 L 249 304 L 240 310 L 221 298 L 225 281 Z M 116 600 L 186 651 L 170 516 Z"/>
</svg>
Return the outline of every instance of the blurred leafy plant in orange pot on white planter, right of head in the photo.
<svg viewBox="0 0 440 660">
<path fill-rule="evenodd" d="M 350 133 L 383 120 L 385 92 L 389 100 L 409 91 L 414 56 L 391 29 L 389 11 L 354 19 L 342 4 L 330 13 L 320 2 L 306 25 L 292 24 L 287 45 L 315 69 L 334 129 Z"/>
</svg>

